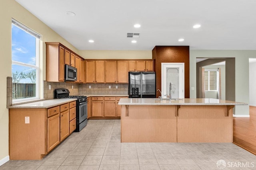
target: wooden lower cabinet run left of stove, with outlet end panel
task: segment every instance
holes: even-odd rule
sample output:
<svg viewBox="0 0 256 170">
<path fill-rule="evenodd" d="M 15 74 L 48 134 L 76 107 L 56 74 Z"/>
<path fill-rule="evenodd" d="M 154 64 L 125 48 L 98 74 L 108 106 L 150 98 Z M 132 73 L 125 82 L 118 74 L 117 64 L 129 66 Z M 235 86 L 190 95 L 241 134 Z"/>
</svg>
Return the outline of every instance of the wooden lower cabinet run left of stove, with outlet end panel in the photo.
<svg viewBox="0 0 256 170">
<path fill-rule="evenodd" d="M 76 101 L 48 109 L 9 109 L 9 122 L 10 160 L 40 160 L 76 129 Z"/>
</svg>

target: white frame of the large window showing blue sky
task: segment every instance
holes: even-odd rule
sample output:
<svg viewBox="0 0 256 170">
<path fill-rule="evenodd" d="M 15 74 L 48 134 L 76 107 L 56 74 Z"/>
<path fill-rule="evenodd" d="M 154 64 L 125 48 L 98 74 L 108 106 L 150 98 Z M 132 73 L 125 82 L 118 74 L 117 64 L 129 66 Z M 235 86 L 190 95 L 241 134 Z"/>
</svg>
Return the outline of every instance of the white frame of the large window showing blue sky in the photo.
<svg viewBox="0 0 256 170">
<path fill-rule="evenodd" d="M 40 95 L 39 95 L 39 92 L 40 92 L 40 58 L 39 58 L 39 55 L 40 54 L 39 54 L 39 51 L 40 51 L 40 41 L 41 41 L 42 36 L 39 33 L 36 33 L 35 31 L 33 31 L 32 29 L 26 27 L 22 23 L 14 20 L 13 18 L 12 18 L 12 25 L 18 27 L 19 29 L 22 29 L 26 33 L 28 33 L 31 36 L 36 38 L 36 65 L 12 60 L 12 65 L 14 64 L 14 65 L 25 66 L 25 67 L 30 67 L 30 68 L 36 69 L 36 96 L 30 97 L 30 98 L 12 99 L 12 102 L 16 103 L 16 102 L 37 100 L 40 98 Z"/>
</svg>

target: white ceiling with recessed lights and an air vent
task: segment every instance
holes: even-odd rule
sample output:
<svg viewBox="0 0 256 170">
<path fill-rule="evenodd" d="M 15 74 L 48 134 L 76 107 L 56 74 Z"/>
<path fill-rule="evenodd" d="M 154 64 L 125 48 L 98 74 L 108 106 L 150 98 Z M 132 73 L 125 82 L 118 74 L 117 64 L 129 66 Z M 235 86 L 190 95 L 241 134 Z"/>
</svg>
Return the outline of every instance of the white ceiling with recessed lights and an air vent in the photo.
<svg viewBox="0 0 256 170">
<path fill-rule="evenodd" d="M 156 45 L 256 50 L 256 0 L 16 1 L 79 50 L 152 50 Z M 76 16 L 67 16 L 68 11 Z M 141 27 L 134 28 L 136 23 Z M 194 29 L 197 23 L 202 26 Z M 127 32 L 140 33 L 137 43 Z"/>
</svg>

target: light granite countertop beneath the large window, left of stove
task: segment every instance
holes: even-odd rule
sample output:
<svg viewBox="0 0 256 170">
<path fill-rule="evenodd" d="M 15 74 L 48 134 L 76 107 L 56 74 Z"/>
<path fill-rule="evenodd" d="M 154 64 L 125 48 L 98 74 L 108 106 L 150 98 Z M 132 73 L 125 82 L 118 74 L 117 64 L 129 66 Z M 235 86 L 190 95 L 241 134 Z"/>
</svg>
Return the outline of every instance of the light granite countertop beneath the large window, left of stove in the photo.
<svg viewBox="0 0 256 170">
<path fill-rule="evenodd" d="M 15 106 L 7 106 L 7 108 L 9 108 L 9 109 L 43 109 L 43 108 L 46 108 L 47 109 L 50 107 L 58 106 L 58 105 L 65 104 L 68 102 L 73 102 L 76 100 L 77 99 L 70 99 L 70 98 L 42 100 L 39 102 L 19 104 L 19 105 L 15 105 Z"/>
</svg>

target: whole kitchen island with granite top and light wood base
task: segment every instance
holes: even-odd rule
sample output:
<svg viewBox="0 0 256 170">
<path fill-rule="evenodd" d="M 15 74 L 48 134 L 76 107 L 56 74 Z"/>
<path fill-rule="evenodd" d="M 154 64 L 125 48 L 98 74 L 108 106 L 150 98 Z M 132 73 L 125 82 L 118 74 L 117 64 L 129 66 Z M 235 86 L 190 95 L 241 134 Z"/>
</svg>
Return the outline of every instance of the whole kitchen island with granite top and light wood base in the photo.
<svg viewBox="0 0 256 170">
<path fill-rule="evenodd" d="M 233 107 L 218 99 L 123 98 L 121 142 L 232 143 Z"/>
</svg>

